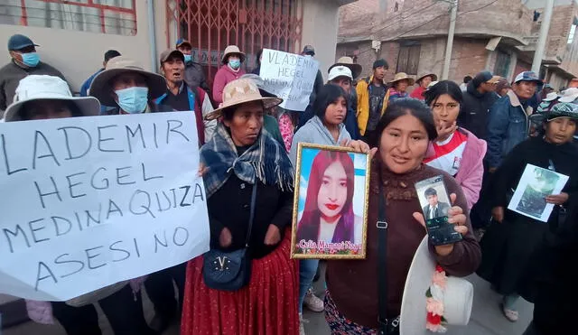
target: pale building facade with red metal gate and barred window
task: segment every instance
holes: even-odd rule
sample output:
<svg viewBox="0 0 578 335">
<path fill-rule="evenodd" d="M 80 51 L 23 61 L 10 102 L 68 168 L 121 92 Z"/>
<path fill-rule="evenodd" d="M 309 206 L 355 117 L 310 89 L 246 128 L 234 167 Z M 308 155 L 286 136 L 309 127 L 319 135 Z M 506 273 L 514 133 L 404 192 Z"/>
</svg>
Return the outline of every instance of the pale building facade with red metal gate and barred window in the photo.
<svg viewBox="0 0 578 335">
<path fill-rule="evenodd" d="M 299 52 L 312 44 L 322 72 L 337 44 L 338 10 L 355 0 L 4 0 L 0 41 L 23 33 L 40 45 L 42 60 L 61 70 L 78 91 L 109 49 L 158 70 L 158 55 L 180 37 L 211 79 L 222 51 L 238 44 L 255 66 L 260 48 Z M 10 60 L 8 51 L 0 63 Z"/>
</svg>

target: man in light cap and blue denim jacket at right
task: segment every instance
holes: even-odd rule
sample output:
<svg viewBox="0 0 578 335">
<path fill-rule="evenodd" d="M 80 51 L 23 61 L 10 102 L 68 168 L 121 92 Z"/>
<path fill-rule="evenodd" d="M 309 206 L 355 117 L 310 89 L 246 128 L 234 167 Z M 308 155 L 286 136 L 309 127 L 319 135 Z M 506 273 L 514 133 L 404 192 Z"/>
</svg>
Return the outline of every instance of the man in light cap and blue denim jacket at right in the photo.
<svg viewBox="0 0 578 335">
<path fill-rule="evenodd" d="M 528 116 L 533 107 L 527 106 L 528 100 L 543 85 L 542 80 L 532 71 L 521 72 L 514 79 L 512 90 L 500 98 L 489 110 L 488 154 L 489 172 L 494 172 L 502 159 L 520 142 L 527 139 L 529 131 Z"/>
</svg>

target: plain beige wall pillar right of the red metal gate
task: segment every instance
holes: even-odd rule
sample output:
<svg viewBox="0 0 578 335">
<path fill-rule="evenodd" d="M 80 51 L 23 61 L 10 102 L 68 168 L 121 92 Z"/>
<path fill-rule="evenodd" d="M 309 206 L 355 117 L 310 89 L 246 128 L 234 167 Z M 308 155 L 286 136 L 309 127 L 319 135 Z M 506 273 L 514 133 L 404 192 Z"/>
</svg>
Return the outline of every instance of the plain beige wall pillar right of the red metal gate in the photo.
<svg viewBox="0 0 578 335">
<path fill-rule="evenodd" d="M 311 44 L 315 48 L 315 59 L 320 61 L 323 79 L 334 63 L 339 24 L 339 4 L 332 0 L 309 0 L 303 2 L 302 47 Z"/>
</svg>

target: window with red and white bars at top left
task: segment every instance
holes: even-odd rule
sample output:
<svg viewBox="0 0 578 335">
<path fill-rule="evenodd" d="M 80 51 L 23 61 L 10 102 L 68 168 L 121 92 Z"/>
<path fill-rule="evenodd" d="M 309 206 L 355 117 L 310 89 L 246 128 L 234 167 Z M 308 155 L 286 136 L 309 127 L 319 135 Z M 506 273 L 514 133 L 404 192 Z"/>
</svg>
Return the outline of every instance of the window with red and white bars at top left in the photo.
<svg viewBox="0 0 578 335">
<path fill-rule="evenodd" d="M 135 0 L 2 0 L 0 24 L 135 35 Z"/>
</svg>

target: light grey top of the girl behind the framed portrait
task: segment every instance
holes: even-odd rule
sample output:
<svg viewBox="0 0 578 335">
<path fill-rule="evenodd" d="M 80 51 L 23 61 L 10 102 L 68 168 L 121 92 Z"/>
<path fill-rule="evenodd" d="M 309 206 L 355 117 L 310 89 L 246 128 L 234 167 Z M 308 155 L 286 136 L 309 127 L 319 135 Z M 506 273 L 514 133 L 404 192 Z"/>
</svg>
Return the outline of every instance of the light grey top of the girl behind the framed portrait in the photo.
<svg viewBox="0 0 578 335">
<path fill-rule="evenodd" d="M 340 145 L 343 140 L 351 140 L 350 133 L 345 129 L 345 125 L 340 124 L 340 135 L 337 141 L 331 136 L 329 130 L 322 124 L 318 116 L 313 116 L 305 125 L 303 125 L 293 136 L 291 144 L 291 153 L 289 158 L 293 166 L 297 163 L 297 149 L 300 143 L 311 143 L 321 145 Z"/>
</svg>

